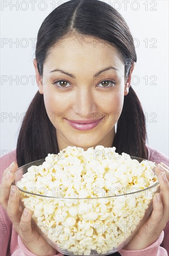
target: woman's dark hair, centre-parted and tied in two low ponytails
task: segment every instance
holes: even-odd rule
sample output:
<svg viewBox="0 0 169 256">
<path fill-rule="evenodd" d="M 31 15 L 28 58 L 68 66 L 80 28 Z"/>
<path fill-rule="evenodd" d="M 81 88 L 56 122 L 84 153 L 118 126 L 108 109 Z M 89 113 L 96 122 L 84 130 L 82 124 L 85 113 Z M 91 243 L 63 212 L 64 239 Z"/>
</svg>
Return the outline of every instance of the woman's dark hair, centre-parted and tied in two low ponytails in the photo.
<svg viewBox="0 0 169 256">
<path fill-rule="evenodd" d="M 43 21 L 36 45 L 36 59 L 40 76 L 52 46 L 71 33 L 92 36 L 117 47 L 125 64 L 125 78 L 129 76 L 137 55 L 129 27 L 123 17 L 110 5 L 100 0 L 70 0 L 54 9 Z M 133 88 L 124 98 L 122 113 L 113 141 L 121 154 L 147 159 L 146 126 L 141 103 Z M 26 112 L 17 142 L 17 162 L 22 166 L 59 152 L 56 129 L 44 106 L 44 96 L 34 96 Z"/>
</svg>

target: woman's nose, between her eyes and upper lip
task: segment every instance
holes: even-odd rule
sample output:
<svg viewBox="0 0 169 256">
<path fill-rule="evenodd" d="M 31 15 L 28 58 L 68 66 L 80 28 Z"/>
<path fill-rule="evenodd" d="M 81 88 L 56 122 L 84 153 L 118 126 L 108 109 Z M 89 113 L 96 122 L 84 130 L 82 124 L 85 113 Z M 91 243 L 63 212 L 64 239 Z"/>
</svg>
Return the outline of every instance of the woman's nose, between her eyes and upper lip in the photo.
<svg viewBox="0 0 169 256">
<path fill-rule="evenodd" d="M 93 118 L 93 115 L 97 112 L 97 109 L 94 95 L 91 90 L 87 88 L 80 88 L 76 91 L 73 110 L 81 118 Z"/>
</svg>

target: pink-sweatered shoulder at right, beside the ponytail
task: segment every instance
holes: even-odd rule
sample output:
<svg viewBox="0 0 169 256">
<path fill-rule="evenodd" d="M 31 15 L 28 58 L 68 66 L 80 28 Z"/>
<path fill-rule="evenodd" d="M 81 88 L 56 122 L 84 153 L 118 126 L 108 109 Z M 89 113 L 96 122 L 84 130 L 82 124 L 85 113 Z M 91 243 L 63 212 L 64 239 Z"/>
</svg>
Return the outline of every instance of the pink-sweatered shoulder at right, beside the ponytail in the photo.
<svg viewBox="0 0 169 256">
<path fill-rule="evenodd" d="M 156 148 L 151 148 L 149 145 L 146 145 L 148 149 L 148 160 L 152 162 L 160 163 L 163 162 L 167 166 L 169 166 L 169 157 L 164 155 L 162 152 L 157 150 Z"/>
</svg>

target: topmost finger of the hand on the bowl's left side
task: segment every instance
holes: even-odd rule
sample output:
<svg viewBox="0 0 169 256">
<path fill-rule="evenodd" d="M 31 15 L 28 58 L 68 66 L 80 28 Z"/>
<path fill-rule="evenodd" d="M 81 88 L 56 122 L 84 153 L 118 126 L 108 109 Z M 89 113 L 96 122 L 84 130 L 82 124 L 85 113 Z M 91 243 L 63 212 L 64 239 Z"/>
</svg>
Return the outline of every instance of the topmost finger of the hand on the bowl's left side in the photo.
<svg viewBox="0 0 169 256">
<path fill-rule="evenodd" d="M 13 162 L 3 173 L 2 182 L 0 184 L 0 203 L 4 209 L 7 209 L 7 202 L 10 194 L 11 183 L 15 179 L 15 172 L 18 169 L 16 162 Z"/>
</svg>

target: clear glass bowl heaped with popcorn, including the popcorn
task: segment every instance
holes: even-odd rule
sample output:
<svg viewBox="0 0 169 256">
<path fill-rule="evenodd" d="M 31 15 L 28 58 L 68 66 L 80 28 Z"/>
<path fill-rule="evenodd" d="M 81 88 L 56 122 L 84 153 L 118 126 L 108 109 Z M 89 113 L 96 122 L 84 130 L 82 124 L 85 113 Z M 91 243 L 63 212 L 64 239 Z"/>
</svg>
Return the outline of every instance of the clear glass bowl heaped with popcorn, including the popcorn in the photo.
<svg viewBox="0 0 169 256">
<path fill-rule="evenodd" d="M 115 150 L 69 146 L 17 170 L 21 204 L 60 253 L 119 251 L 150 216 L 159 191 L 156 164 Z"/>
</svg>

